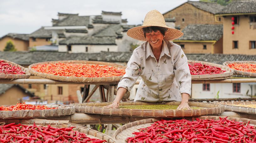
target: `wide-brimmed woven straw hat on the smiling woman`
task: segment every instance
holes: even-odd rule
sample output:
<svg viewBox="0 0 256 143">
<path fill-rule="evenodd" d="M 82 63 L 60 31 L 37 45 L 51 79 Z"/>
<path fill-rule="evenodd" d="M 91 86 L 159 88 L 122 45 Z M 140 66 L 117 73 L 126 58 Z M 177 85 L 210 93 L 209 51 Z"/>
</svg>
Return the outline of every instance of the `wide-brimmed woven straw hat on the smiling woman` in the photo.
<svg viewBox="0 0 256 143">
<path fill-rule="evenodd" d="M 147 41 L 147 39 L 144 37 L 144 32 L 142 28 L 150 26 L 167 28 L 168 30 L 165 32 L 164 37 L 164 39 L 167 41 L 174 40 L 183 36 L 183 33 L 181 31 L 166 26 L 163 15 L 157 10 L 151 10 L 150 12 L 148 12 L 144 18 L 143 25 L 129 29 L 127 31 L 127 35 L 140 41 Z"/>
</svg>

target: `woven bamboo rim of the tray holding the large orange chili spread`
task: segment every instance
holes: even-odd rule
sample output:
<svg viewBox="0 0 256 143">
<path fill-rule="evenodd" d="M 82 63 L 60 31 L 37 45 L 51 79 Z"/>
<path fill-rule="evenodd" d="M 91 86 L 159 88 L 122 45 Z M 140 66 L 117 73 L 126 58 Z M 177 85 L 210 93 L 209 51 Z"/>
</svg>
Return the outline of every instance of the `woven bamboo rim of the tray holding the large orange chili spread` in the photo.
<svg viewBox="0 0 256 143">
<path fill-rule="evenodd" d="M 113 76 L 113 77 L 72 77 L 72 76 L 55 76 L 42 72 L 37 72 L 32 67 L 40 64 L 55 64 L 55 63 L 80 63 L 80 64 L 98 64 L 98 65 L 107 65 L 117 68 L 125 69 L 125 66 L 109 63 L 109 62 L 98 62 L 98 61 L 52 61 L 52 62 L 39 62 L 32 64 L 28 67 L 29 72 L 35 76 L 40 76 L 47 79 L 58 80 L 58 81 L 73 81 L 73 82 L 112 82 L 120 81 L 123 76 Z"/>
</svg>

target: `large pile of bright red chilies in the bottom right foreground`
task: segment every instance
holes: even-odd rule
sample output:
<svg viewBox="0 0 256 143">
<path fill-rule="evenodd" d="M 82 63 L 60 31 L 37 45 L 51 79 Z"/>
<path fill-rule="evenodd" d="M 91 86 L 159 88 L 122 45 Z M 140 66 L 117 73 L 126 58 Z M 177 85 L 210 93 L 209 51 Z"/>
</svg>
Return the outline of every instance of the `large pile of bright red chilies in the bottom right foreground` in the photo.
<svg viewBox="0 0 256 143">
<path fill-rule="evenodd" d="M 161 120 L 147 128 L 133 132 L 126 141 L 141 143 L 255 143 L 255 126 L 220 118 L 196 119 L 196 121 Z"/>
</svg>

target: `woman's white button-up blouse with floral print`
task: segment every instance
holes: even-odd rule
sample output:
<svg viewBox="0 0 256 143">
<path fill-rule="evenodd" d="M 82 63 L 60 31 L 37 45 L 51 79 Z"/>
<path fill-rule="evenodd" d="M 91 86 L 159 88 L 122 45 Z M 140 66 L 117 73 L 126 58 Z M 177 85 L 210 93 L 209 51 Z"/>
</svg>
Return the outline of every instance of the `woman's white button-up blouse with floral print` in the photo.
<svg viewBox="0 0 256 143">
<path fill-rule="evenodd" d="M 125 72 L 117 89 L 130 91 L 138 77 L 142 79 L 134 101 L 181 101 L 181 93 L 191 94 L 188 59 L 172 42 L 164 40 L 159 62 L 149 42 L 143 43 L 133 51 Z"/>
</svg>

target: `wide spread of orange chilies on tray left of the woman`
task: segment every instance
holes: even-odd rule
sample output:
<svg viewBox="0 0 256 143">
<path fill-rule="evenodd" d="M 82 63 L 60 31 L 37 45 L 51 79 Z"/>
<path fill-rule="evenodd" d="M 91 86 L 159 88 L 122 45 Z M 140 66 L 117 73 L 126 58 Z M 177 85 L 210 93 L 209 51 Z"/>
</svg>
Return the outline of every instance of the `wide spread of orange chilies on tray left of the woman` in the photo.
<svg viewBox="0 0 256 143">
<path fill-rule="evenodd" d="M 42 72 L 56 76 L 74 76 L 74 77 L 112 77 L 123 76 L 124 69 L 117 67 L 95 64 L 74 64 L 74 63 L 56 63 L 41 64 L 32 67 L 37 72 Z"/>
</svg>

